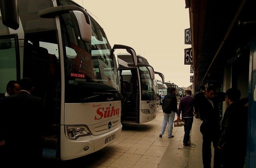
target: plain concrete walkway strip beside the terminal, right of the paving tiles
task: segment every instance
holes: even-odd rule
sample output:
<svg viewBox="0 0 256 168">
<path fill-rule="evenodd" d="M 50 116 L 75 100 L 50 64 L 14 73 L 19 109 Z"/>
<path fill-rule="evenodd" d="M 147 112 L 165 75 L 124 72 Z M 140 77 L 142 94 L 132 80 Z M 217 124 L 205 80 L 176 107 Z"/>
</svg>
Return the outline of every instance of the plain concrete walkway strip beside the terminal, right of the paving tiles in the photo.
<svg viewBox="0 0 256 168">
<path fill-rule="evenodd" d="M 183 146 L 184 127 L 176 127 L 174 139 L 168 145 L 158 168 L 203 168 L 201 123 L 200 119 L 194 118 L 190 132 L 190 146 Z M 214 156 L 213 147 L 212 156 Z"/>
</svg>

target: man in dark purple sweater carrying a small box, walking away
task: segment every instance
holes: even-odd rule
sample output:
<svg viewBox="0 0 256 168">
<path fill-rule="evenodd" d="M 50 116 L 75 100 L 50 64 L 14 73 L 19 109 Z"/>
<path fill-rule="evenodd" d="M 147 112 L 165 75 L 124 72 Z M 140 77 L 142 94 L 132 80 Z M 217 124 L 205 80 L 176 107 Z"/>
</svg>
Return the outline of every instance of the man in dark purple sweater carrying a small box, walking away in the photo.
<svg viewBox="0 0 256 168">
<path fill-rule="evenodd" d="M 184 138 L 183 138 L 183 146 L 189 146 L 190 144 L 190 130 L 193 124 L 194 117 L 194 107 L 195 107 L 195 99 L 191 97 L 191 90 L 186 90 L 186 96 L 180 99 L 179 109 L 177 113 L 177 119 L 180 119 L 180 114 L 182 114 L 182 119 L 185 120 L 184 125 Z"/>
</svg>

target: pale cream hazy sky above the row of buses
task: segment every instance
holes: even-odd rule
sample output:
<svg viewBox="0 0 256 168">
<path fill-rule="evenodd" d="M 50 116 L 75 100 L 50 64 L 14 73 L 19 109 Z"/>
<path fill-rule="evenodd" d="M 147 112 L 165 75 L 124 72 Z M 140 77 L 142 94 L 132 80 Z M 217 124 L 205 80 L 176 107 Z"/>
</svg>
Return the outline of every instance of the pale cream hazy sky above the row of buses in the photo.
<svg viewBox="0 0 256 168">
<path fill-rule="evenodd" d="M 190 65 L 184 65 L 184 49 L 191 47 L 184 44 L 184 29 L 190 27 L 185 0 L 75 1 L 101 21 L 111 46 L 134 48 L 165 81 L 179 87 L 192 84 Z"/>
</svg>

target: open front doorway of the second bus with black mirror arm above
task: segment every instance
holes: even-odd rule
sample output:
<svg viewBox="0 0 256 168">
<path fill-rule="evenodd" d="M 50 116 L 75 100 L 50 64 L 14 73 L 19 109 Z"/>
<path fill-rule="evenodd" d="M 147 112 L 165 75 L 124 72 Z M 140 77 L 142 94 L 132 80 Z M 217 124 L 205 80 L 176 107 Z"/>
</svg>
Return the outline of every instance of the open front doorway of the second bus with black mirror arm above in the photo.
<svg viewBox="0 0 256 168">
<path fill-rule="evenodd" d="M 126 54 L 118 55 L 120 65 L 120 93 L 122 99 L 121 120 L 122 122 L 139 122 L 139 78 L 136 68 L 137 58 L 133 48 L 124 45 L 114 45 L 112 50 L 126 49 Z M 114 52 L 114 51 L 113 51 Z M 117 52 L 118 53 L 118 52 Z"/>
</svg>

